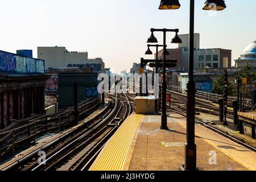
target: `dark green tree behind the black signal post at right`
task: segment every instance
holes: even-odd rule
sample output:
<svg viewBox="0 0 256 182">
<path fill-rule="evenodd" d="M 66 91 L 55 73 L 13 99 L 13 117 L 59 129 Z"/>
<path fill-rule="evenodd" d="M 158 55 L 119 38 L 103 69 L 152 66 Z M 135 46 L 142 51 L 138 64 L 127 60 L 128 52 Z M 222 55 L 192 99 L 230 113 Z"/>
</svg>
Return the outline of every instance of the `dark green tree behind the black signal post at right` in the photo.
<svg viewBox="0 0 256 182">
<path fill-rule="evenodd" d="M 218 77 L 218 80 L 213 82 L 212 85 L 212 92 L 217 94 L 223 94 L 223 78 L 222 76 Z M 234 89 L 234 85 L 232 82 L 228 81 L 228 94 L 229 96 L 233 96 L 233 94 L 236 93 L 236 89 Z"/>
</svg>

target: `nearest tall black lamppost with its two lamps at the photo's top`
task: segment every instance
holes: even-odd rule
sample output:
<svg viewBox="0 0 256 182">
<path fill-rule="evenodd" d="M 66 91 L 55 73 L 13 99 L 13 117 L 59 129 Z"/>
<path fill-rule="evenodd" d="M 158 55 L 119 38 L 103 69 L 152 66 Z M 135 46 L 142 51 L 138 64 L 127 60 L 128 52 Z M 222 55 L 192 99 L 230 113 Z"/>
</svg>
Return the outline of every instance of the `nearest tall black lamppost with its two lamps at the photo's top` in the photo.
<svg viewBox="0 0 256 182">
<path fill-rule="evenodd" d="M 162 0 L 160 10 L 179 9 L 179 0 Z M 203 10 L 224 10 L 224 0 L 207 0 Z M 195 82 L 193 81 L 193 57 L 194 57 L 194 22 L 195 0 L 190 0 L 189 20 L 189 80 L 187 83 L 187 143 L 185 143 L 184 170 L 195 171 L 196 168 L 196 144 L 195 144 Z"/>
</svg>

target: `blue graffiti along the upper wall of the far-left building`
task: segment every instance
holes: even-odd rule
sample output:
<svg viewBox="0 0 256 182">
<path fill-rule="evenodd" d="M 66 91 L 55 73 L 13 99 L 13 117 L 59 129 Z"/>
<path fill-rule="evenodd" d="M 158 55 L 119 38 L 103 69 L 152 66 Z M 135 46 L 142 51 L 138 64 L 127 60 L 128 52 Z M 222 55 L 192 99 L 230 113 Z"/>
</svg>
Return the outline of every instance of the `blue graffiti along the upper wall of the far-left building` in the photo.
<svg viewBox="0 0 256 182">
<path fill-rule="evenodd" d="M 0 51 L 0 71 L 9 73 L 42 73 L 44 60 L 22 57 Z"/>
</svg>

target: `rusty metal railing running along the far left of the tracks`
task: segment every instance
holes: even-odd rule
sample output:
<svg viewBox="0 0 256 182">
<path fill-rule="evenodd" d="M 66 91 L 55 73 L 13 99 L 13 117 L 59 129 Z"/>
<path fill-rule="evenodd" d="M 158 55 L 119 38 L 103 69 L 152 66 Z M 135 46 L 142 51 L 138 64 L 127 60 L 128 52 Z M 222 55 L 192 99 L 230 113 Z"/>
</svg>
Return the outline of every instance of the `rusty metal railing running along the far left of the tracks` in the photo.
<svg viewBox="0 0 256 182">
<path fill-rule="evenodd" d="M 100 105 L 100 98 L 93 98 L 78 107 L 79 117 L 84 118 L 87 113 Z M 14 121 L 10 126 L 0 131 L 0 161 L 10 151 L 15 155 L 17 145 L 36 143 L 36 138 L 47 133 L 63 131 L 73 125 L 74 109 L 64 110 L 58 114 L 34 115 L 29 118 Z"/>
</svg>

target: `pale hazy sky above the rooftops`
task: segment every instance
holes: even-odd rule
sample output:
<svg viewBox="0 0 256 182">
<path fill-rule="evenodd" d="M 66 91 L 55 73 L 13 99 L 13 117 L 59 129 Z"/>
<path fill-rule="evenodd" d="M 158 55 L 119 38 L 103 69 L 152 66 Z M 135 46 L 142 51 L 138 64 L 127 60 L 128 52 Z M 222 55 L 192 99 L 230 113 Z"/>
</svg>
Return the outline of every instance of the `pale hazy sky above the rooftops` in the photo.
<svg viewBox="0 0 256 182">
<path fill-rule="evenodd" d="M 189 0 L 180 0 L 179 10 L 158 10 L 160 0 L 10 0 L 0 6 L 0 49 L 33 49 L 65 46 L 69 51 L 88 51 L 102 57 L 105 67 L 130 70 L 146 51 L 150 28 L 189 31 Z M 210 16 L 201 10 L 205 0 L 196 0 L 195 32 L 201 48 L 232 49 L 232 60 L 256 40 L 256 1 L 226 0 L 227 8 Z M 162 34 L 156 33 L 159 43 Z M 169 33 L 169 42 L 174 34 Z M 160 42 L 161 41 L 161 42 Z M 152 50 L 153 51 L 153 50 Z"/>
</svg>

